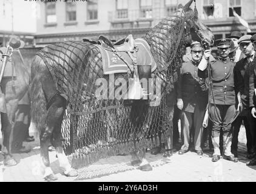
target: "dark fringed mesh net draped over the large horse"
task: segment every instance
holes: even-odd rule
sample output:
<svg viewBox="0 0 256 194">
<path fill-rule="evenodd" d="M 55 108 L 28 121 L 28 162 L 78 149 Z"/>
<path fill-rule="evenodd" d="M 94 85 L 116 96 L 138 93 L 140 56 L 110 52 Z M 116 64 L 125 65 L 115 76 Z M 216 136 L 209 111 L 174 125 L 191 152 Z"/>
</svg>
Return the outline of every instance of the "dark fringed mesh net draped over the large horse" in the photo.
<svg viewBox="0 0 256 194">
<path fill-rule="evenodd" d="M 58 92 L 69 102 L 62 121 L 62 142 L 66 154 L 72 155 L 73 167 L 151 149 L 167 141 L 172 124 L 167 116 L 166 95 L 177 80 L 186 29 L 190 28 L 187 23 L 184 30 L 184 22 L 193 12 L 188 13 L 186 17 L 178 14 L 166 18 L 144 36 L 158 65 L 153 72 L 154 84 L 161 79 L 158 106 L 149 106 L 147 100 L 97 98 L 97 79 L 106 79 L 108 96 L 118 86 L 111 87 L 110 77 L 103 75 L 101 54 L 90 42 L 67 41 L 41 50 Z M 114 81 L 120 78 L 127 81 L 127 73 L 115 73 Z"/>
</svg>

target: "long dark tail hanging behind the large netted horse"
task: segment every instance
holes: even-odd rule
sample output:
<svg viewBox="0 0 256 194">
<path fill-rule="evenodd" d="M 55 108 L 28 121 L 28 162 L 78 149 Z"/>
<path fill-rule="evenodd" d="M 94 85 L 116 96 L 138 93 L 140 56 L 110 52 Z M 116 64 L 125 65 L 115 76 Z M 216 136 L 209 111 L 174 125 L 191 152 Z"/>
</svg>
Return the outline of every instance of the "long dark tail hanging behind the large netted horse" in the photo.
<svg viewBox="0 0 256 194">
<path fill-rule="evenodd" d="M 31 97 L 31 115 L 32 122 L 35 124 L 36 130 L 39 134 L 44 132 L 46 127 L 46 99 L 44 91 L 42 90 L 40 67 L 45 65 L 42 59 L 36 55 L 31 66 L 31 85 L 30 85 L 30 97 Z"/>
</svg>

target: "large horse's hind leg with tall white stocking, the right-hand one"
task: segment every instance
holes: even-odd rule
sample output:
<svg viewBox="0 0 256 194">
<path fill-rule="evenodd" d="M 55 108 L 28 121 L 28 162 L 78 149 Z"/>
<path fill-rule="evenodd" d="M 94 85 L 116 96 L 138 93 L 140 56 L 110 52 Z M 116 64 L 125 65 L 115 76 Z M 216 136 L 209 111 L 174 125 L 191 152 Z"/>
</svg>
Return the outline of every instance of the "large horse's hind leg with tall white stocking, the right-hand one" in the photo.
<svg viewBox="0 0 256 194">
<path fill-rule="evenodd" d="M 50 105 L 47 113 L 47 127 L 52 136 L 52 145 L 56 149 L 56 154 L 59 160 L 59 166 L 64 169 L 66 176 L 78 176 L 78 172 L 69 164 L 69 160 L 65 155 L 61 143 L 61 123 L 66 109 L 66 99 L 60 95 L 54 96 L 54 102 Z"/>
</svg>

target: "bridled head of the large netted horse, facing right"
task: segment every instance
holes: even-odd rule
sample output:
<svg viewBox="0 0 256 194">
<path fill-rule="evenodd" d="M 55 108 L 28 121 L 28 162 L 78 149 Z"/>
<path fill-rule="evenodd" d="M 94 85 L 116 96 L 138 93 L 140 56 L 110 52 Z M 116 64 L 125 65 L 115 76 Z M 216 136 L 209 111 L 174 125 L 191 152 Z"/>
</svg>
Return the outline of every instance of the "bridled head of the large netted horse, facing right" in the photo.
<svg viewBox="0 0 256 194">
<path fill-rule="evenodd" d="M 194 8 L 194 12 L 189 8 L 193 1 L 195 0 L 190 0 L 183 7 L 185 18 L 187 18 L 186 24 L 190 24 L 189 41 L 191 41 L 191 39 L 194 41 L 200 41 L 205 47 L 209 47 L 214 44 L 214 34 L 210 28 L 208 28 L 198 19 L 197 8 Z"/>
</svg>

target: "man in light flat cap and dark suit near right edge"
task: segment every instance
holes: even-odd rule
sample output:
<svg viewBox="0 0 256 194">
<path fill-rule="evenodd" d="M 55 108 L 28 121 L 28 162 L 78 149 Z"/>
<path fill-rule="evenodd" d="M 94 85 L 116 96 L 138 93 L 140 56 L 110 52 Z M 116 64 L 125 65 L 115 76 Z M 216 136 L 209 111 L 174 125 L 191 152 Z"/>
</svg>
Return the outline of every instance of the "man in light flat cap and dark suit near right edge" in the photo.
<svg viewBox="0 0 256 194">
<path fill-rule="evenodd" d="M 254 93 L 254 76 L 252 73 L 254 65 L 252 64 L 252 59 L 254 58 L 255 51 L 250 39 L 251 35 L 244 35 L 238 40 L 240 50 L 242 51 L 244 56 L 246 56 L 246 58 L 241 59 L 235 65 L 234 81 L 235 85 L 237 85 L 237 87 L 235 87 L 235 92 L 238 97 L 238 104 L 243 105 L 243 110 L 232 124 L 232 126 L 234 127 L 234 135 L 232 139 L 231 149 L 232 153 L 234 153 L 235 157 L 237 157 L 238 133 L 241 127 L 241 123 L 243 121 L 246 130 L 246 146 L 248 151 L 247 157 L 249 159 L 252 159 L 254 149 L 252 147 L 251 130 L 253 130 L 256 125 L 251 115 L 251 109 L 254 104 L 252 102 L 252 98 L 249 98 L 249 96 L 251 96 L 251 93 Z"/>
</svg>

